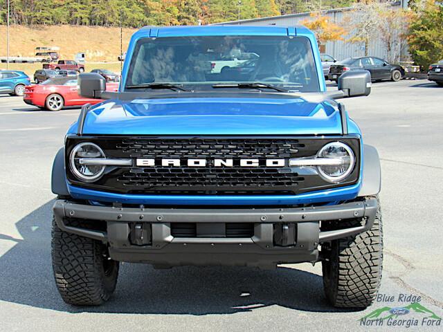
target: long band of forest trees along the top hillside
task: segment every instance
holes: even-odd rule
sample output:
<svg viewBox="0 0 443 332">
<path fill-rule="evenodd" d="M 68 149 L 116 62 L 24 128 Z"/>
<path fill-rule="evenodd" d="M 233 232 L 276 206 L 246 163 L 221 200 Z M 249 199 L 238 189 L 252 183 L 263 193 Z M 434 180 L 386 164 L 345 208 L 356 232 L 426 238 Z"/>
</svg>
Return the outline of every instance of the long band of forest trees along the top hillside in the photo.
<svg viewBox="0 0 443 332">
<path fill-rule="evenodd" d="M 350 6 L 353 0 L 242 0 L 240 18 L 307 12 Z M 123 26 L 203 24 L 238 19 L 238 0 L 10 0 L 11 24 Z M 6 24 L 6 0 L 0 1 Z"/>
</svg>

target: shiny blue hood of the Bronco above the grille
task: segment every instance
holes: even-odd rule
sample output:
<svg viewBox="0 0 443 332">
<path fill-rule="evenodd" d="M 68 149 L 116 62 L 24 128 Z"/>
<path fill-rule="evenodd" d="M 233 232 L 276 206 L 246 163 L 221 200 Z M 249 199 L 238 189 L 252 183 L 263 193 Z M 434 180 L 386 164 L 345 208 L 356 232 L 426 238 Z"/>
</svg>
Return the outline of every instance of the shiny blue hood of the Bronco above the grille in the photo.
<svg viewBox="0 0 443 332">
<path fill-rule="evenodd" d="M 97 104 L 87 115 L 83 133 L 326 135 L 340 134 L 342 127 L 340 113 L 329 102 L 302 98 L 168 98 Z"/>
</svg>

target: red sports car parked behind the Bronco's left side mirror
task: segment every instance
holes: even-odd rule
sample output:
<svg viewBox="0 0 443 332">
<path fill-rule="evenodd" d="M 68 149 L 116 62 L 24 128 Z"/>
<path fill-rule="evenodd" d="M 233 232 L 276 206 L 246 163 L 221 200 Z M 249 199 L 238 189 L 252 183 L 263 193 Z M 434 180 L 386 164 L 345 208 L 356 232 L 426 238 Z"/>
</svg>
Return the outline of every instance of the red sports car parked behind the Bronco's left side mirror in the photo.
<svg viewBox="0 0 443 332">
<path fill-rule="evenodd" d="M 60 111 L 66 106 L 82 106 L 84 104 L 97 104 L 102 100 L 82 98 L 77 93 L 77 78 L 54 77 L 41 84 L 26 86 L 24 102 L 40 109 Z M 107 83 L 107 91 L 118 91 L 118 83 Z"/>
</svg>

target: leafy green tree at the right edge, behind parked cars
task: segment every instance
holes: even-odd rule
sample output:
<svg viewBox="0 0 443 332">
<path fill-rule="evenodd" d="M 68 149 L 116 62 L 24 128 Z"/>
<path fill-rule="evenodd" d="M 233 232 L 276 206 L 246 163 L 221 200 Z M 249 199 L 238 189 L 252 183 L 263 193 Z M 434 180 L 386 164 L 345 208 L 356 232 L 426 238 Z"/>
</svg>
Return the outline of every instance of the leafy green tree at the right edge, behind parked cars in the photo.
<svg viewBox="0 0 443 332">
<path fill-rule="evenodd" d="M 426 69 L 443 59 L 443 6 L 432 0 L 422 4 L 413 13 L 408 44 L 415 64 Z"/>
</svg>

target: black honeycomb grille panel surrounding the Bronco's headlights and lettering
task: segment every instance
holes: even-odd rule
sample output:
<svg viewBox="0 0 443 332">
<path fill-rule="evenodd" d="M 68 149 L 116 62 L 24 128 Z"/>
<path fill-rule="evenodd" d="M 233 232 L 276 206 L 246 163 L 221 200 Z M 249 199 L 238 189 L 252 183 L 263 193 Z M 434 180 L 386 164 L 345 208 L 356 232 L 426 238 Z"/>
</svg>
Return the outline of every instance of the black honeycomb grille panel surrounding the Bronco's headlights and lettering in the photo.
<svg viewBox="0 0 443 332">
<path fill-rule="evenodd" d="M 70 172 L 69 181 L 75 185 L 96 190 L 127 194 L 297 194 L 339 185 L 327 183 L 309 169 L 289 167 L 289 158 L 315 156 L 323 145 L 334 140 L 345 141 L 359 160 L 357 138 L 320 137 L 70 137 L 66 143 L 66 156 L 82 141 L 95 142 L 108 158 L 132 158 L 130 167 L 109 167 L 95 183 L 80 183 Z M 67 158 L 67 157 L 66 157 Z M 137 158 L 156 160 L 155 166 L 138 167 Z M 183 161 L 181 167 L 162 166 L 162 158 Z M 205 167 L 188 167 L 186 160 L 204 158 Z M 284 167 L 215 167 L 214 158 L 266 158 L 284 159 Z M 157 162 L 158 161 L 158 162 Z M 358 162 L 357 162 L 358 164 Z M 355 183 L 359 176 L 356 165 L 349 181 Z"/>
</svg>

